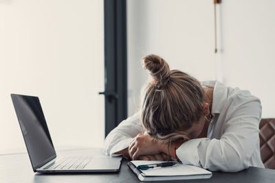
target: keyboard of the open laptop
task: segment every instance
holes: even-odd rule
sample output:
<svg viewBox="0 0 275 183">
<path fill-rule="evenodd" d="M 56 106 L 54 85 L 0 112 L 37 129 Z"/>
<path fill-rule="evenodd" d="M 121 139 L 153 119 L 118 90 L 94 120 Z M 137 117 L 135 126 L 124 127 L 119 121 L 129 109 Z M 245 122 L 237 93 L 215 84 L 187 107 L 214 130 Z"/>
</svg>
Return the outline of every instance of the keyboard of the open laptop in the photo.
<svg viewBox="0 0 275 183">
<path fill-rule="evenodd" d="M 91 159 L 91 156 L 63 157 L 55 160 L 44 169 L 84 169 Z"/>
</svg>

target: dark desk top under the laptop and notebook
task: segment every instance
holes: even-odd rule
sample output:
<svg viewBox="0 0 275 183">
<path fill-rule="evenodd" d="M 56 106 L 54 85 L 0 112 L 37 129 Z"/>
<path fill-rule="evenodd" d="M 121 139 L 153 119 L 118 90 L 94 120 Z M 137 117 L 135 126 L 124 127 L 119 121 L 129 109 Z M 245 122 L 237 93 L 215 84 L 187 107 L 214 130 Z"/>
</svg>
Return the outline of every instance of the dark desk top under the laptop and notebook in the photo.
<svg viewBox="0 0 275 183">
<path fill-rule="evenodd" d="M 58 155 L 89 154 L 91 156 L 102 154 L 102 149 L 78 149 L 71 151 L 60 151 Z M 61 183 L 61 182 L 140 182 L 132 171 L 127 167 L 128 160 L 122 160 L 119 173 L 81 173 L 81 174 L 43 174 L 34 173 L 28 154 L 11 154 L 0 156 L 0 182 L 28 182 L 28 183 Z M 250 167 L 239 173 L 213 172 L 212 178 L 208 180 L 179 180 L 170 182 L 275 182 L 275 170 Z"/>
</svg>

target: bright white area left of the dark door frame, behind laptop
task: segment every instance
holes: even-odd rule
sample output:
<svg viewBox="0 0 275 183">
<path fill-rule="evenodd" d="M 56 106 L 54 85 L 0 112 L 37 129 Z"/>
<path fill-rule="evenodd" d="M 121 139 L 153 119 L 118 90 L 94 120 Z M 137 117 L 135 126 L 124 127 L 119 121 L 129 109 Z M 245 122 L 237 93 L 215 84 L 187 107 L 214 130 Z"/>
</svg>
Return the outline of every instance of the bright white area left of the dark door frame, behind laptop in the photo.
<svg viewBox="0 0 275 183">
<path fill-rule="evenodd" d="M 0 152 L 25 149 L 10 93 L 39 96 L 55 146 L 104 141 L 103 1 L 0 1 Z"/>
</svg>

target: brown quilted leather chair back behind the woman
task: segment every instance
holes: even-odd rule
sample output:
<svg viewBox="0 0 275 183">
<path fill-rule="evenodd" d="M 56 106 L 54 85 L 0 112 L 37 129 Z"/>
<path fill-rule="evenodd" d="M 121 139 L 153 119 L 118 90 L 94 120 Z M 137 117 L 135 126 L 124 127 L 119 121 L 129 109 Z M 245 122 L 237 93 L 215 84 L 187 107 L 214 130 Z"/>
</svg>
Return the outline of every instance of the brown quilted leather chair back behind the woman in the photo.
<svg viewBox="0 0 275 183">
<path fill-rule="evenodd" d="M 265 168 L 275 169 L 275 119 L 261 119 L 261 159 Z"/>
</svg>

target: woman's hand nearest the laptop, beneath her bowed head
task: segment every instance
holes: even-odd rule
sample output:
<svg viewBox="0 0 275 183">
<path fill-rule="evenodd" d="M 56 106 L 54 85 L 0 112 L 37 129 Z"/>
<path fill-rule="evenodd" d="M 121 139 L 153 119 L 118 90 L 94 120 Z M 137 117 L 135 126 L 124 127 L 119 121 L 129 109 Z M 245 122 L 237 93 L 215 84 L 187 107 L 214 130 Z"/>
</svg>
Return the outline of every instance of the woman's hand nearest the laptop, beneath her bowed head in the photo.
<svg viewBox="0 0 275 183">
<path fill-rule="evenodd" d="M 153 156 L 162 152 L 163 147 L 164 143 L 158 142 L 155 138 L 147 134 L 137 134 L 129 146 L 129 156 L 132 160 L 137 160 L 142 155 L 153 159 Z"/>
</svg>

